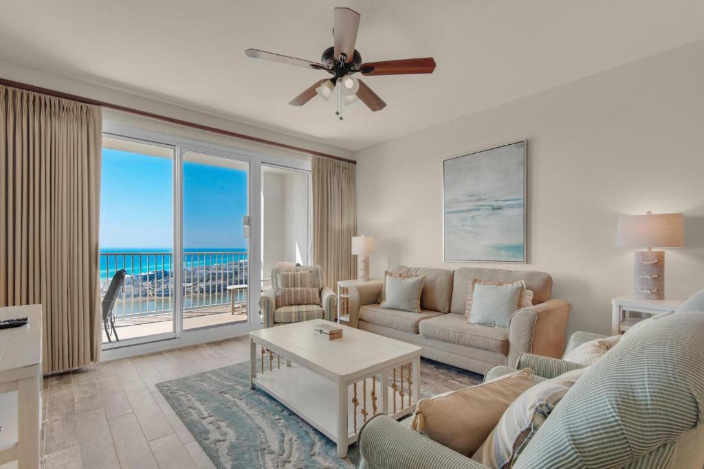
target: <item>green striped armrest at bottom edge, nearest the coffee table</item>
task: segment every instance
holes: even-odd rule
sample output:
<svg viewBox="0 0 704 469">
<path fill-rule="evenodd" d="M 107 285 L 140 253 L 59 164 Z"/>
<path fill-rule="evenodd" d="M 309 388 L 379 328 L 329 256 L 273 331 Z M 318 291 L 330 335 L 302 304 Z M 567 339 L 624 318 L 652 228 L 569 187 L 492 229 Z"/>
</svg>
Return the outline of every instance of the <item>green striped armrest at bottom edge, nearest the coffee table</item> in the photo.
<svg viewBox="0 0 704 469">
<path fill-rule="evenodd" d="M 486 469 L 381 413 L 360 430 L 360 469 Z"/>
</svg>

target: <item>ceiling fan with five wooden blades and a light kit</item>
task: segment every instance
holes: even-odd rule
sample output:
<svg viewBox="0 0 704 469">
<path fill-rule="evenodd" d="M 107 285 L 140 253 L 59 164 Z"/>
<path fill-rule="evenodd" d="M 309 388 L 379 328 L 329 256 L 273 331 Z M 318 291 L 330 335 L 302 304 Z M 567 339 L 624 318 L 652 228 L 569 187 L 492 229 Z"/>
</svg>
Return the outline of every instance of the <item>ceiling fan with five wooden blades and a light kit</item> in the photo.
<svg viewBox="0 0 704 469">
<path fill-rule="evenodd" d="M 424 57 L 362 63 L 362 56 L 354 48 L 357 41 L 359 20 L 360 14 L 350 8 L 334 9 L 334 46 L 325 49 L 320 63 L 282 56 L 278 53 L 259 51 L 258 49 L 247 49 L 244 53 L 252 58 L 263 58 L 287 65 L 310 68 L 311 70 L 324 70 L 332 75 L 330 78 L 315 82 L 306 91 L 289 101 L 292 106 L 302 106 L 315 98 L 316 94 L 325 99 L 325 101 L 329 101 L 330 96 L 332 96 L 333 91 L 337 87 L 336 114 L 340 120 L 343 118 L 343 105 L 354 103 L 357 98 L 372 111 L 382 110 L 386 107 L 386 103 L 362 80 L 353 77 L 354 74 L 361 73 L 365 77 L 374 77 L 376 75 L 432 73 L 435 70 L 435 60 L 432 57 Z"/>
</svg>

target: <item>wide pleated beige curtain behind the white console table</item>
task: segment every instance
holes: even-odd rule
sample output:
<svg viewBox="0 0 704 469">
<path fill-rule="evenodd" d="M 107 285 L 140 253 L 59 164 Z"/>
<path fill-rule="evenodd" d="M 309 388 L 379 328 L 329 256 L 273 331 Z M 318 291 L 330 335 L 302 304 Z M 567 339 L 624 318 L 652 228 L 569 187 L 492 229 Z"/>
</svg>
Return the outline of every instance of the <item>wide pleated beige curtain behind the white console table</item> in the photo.
<svg viewBox="0 0 704 469">
<path fill-rule="evenodd" d="M 0 86 L 0 307 L 41 303 L 44 372 L 101 349 L 102 111 Z"/>
</svg>

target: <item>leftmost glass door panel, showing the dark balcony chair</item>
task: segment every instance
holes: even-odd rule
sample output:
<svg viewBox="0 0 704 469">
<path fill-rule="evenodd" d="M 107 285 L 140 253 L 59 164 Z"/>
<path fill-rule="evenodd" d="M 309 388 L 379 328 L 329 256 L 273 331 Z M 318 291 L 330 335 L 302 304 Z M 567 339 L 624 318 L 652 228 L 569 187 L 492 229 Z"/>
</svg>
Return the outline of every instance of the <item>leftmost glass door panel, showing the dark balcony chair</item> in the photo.
<svg viewBox="0 0 704 469">
<path fill-rule="evenodd" d="M 106 137 L 102 158 L 103 343 L 175 337 L 175 148 Z"/>
</svg>

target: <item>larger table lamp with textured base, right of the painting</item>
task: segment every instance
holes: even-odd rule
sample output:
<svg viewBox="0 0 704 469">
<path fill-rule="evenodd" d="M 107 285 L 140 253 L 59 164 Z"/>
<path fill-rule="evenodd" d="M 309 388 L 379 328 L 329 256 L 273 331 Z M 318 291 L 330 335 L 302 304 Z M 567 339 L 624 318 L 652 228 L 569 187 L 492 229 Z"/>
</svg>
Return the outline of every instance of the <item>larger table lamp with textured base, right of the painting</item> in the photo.
<svg viewBox="0 0 704 469">
<path fill-rule="evenodd" d="M 649 300 L 665 299 L 665 251 L 653 248 L 684 248 L 684 218 L 681 213 L 619 217 L 616 245 L 648 248 L 636 251 L 634 294 Z"/>
</svg>

